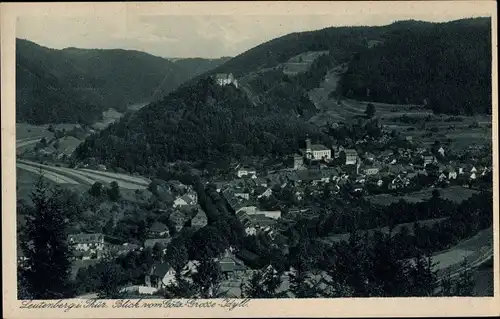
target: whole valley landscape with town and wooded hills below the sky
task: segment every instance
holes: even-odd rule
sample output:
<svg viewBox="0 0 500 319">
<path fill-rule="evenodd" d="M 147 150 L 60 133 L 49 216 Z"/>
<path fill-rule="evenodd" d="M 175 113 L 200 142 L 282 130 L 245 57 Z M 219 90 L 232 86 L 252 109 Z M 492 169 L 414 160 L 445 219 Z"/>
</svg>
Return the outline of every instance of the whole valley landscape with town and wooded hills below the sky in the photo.
<svg viewBox="0 0 500 319">
<path fill-rule="evenodd" d="M 29 40 L 18 299 L 493 296 L 490 18 L 217 59 Z"/>
</svg>

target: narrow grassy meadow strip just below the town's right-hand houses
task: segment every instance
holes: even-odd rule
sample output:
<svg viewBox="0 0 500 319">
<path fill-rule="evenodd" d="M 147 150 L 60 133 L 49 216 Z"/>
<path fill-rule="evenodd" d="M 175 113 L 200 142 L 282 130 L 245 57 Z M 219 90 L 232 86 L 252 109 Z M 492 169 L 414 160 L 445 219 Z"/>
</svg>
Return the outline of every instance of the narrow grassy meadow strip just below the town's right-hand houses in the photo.
<svg viewBox="0 0 500 319">
<path fill-rule="evenodd" d="M 397 203 L 400 200 L 405 200 L 410 203 L 418 203 L 425 201 L 432 197 L 433 188 L 421 190 L 414 193 L 409 193 L 404 196 L 393 196 L 391 194 L 379 194 L 373 196 L 367 196 L 366 199 L 373 204 L 378 205 L 390 205 L 392 203 Z M 464 200 L 469 199 L 472 195 L 477 194 L 478 191 L 465 188 L 461 186 L 450 186 L 447 188 L 438 188 L 441 198 L 445 198 L 455 203 L 461 203 Z"/>
</svg>

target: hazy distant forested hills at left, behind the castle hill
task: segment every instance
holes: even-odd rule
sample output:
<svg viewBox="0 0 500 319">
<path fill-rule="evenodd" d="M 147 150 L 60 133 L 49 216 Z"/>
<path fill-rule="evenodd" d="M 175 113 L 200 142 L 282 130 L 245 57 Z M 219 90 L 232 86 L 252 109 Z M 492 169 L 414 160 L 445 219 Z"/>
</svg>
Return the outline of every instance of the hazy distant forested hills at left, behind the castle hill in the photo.
<svg viewBox="0 0 500 319">
<path fill-rule="evenodd" d="M 17 121 L 89 123 L 102 110 L 157 100 L 222 59 L 175 63 L 144 52 L 49 49 L 16 41 Z"/>
</svg>

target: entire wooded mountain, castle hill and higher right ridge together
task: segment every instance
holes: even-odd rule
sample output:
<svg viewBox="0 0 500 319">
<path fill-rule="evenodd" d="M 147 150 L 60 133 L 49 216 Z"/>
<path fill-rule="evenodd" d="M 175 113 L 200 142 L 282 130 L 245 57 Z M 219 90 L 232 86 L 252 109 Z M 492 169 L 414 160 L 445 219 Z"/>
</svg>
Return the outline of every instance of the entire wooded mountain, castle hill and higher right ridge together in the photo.
<svg viewBox="0 0 500 319">
<path fill-rule="evenodd" d="M 443 24 L 402 21 L 284 36 L 124 117 L 90 137 L 77 156 L 151 173 L 176 160 L 291 154 L 306 134 L 318 141 L 324 138 L 317 127 L 306 124 L 316 113 L 307 92 L 329 70 L 346 62 L 349 68 L 340 95 L 427 103 L 448 113 L 486 112 L 491 109 L 491 97 L 486 96 L 491 85 L 489 25 L 488 19 Z M 329 53 L 315 59 L 306 72 L 289 76 L 279 67 L 301 52 L 318 50 Z M 216 72 L 232 72 L 241 80 L 240 88 L 215 85 L 209 75 Z"/>
</svg>

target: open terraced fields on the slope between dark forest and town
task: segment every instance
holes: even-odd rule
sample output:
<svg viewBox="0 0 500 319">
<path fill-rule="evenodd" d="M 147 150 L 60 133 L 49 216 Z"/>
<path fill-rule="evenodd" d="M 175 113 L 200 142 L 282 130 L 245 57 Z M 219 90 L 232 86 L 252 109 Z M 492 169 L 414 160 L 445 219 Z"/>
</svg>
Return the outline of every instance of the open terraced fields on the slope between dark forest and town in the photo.
<svg viewBox="0 0 500 319">
<path fill-rule="evenodd" d="M 387 131 L 396 131 L 403 136 L 411 136 L 415 143 L 428 147 L 436 140 L 448 142 L 449 148 L 462 151 L 470 145 L 491 144 L 492 130 L 491 116 L 451 116 L 434 114 L 421 105 L 387 104 L 368 101 L 344 99 L 338 101 L 329 97 L 335 92 L 341 70 L 336 69 L 327 73 L 318 88 L 309 92 L 309 98 L 319 113 L 309 119 L 309 122 L 318 126 L 327 123 L 352 123 L 364 117 L 368 103 L 375 106 L 375 117 Z M 409 122 L 402 121 L 402 117 Z M 475 126 L 477 125 L 477 126 Z"/>
</svg>

